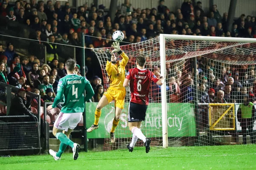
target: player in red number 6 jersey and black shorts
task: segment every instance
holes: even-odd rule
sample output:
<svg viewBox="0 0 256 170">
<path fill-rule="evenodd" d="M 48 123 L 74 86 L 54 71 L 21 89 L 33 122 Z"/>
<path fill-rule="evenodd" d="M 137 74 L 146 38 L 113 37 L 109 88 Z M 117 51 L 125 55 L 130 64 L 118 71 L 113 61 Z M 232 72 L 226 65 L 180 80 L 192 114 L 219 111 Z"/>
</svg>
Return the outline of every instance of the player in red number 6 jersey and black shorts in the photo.
<svg viewBox="0 0 256 170">
<path fill-rule="evenodd" d="M 130 83 L 131 101 L 128 108 L 128 126 L 133 133 L 131 144 L 127 145 L 130 152 L 133 151 L 134 145 L 138 138 L 143 140 L 146 147 L 146 153 L 149 152 L 150 138 L 146 138 L 140 130 L 142 121 L 145 121 L 146 111 L 148 108 L 148 94 L 150 82 L 153 81 L 157 85 L 163 85 L 163 76 L 158 79 L 154 73 L 144 68 L 146 59 L 145 56 L 139 54 L 136 58 L 137 68 L 132 68 L 128 71 L 123 83 L 124 87 L 128 87 Z"/>
</svg>

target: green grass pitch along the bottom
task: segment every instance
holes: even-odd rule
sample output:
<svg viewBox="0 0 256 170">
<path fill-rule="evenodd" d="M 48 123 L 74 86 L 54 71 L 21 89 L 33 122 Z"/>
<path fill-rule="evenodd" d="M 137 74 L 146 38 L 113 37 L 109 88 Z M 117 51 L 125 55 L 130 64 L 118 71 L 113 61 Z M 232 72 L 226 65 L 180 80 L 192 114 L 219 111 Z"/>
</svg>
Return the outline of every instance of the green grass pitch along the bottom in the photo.
<svg viewBox="0 0 256 170">
<path fill-rule="evenodd" d="M 256 170 L 256 145 L 151 148 L 0 158 L 0 170 Z"/>
</svg>

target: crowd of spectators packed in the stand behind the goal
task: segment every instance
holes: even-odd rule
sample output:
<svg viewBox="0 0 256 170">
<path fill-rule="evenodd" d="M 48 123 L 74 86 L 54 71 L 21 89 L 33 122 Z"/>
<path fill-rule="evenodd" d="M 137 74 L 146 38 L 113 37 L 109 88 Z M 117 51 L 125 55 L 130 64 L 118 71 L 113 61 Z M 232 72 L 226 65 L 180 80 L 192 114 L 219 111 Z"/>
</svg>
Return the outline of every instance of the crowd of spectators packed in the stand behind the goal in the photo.
<svg viewBox="0 0 256 170">
<path fill-rule="evenodd" d="M 99 8 L 87 4 L 77 11 L 71 10 L 69 3 L 61 6 L 51 0 L 17 0 L 15 6 L 8 0 L 0 4 L 0 15 L 12 21 L 25 24 L 36 30 L 35 40 L 41 41 L 41 34 L 46 34 L 49 42 L 61 41 L 63 44 L 80 46 L 79 33 L 85 35 L 85 45 L 90 48 L 110 47 L 112 34 L 121 30 L 125 34 L 125 42 L 134 43 L 149 40 L 159 34 L 203 35 L 218 37 L 255 37 L 255 17 L 241 16 L 234 21 L 231 31 L 227 30 L 227 12 L 221 15 L 216 5 L 210 11 L 202 9 L 198 1 L 192 4 L 184 0 L 181 8 L 170 11 L 160 0 L 157 8 L 133 8 L 129 0 L 125 0 L 116 17 L 105 13 L 104 6 Z M 91 37 L 92 36 L 92 37 Z M 102 38 L 107 38 L 102 39 Z M 12 42 L 6 44 L 6 50 L 0 45 L 0 82 L 25 88 L 41 94 L 43 101 L 53 101 L 57 93 L 58 80 L 67 73 L 64 63 L 58 61 L 57 45 L 46 43 L 48 64 L 43 64 L 34 55 L 20 58 L 15 52 Z M 102 86 L 101 68 L 94 52 L 86 50 L 86 76 L 95 90 L 92 102 L 98 102 L 104 88 Z M 221 65 L 221 64 L 220 64 Z M 250 94 L 254 99 L 254 68 L 230 68 L 230 65 L 218 65 L 205 58 L 198 58 L 198 97 L 200 102 L 241 102 L 242 94 Z M 192 70 L 177 70 L 175 65 L 166 64 L 167 91 L 169 102 L 191 102 L 195 100 L 195 87 Z M 185 70 L 185 71 L 184 71 Z M 243 71 L 246 70 L 246 71 Z M 248 74 L 247 74 L 248 72 Z M 186 73 L 186 74 L 185 74 Z M 245 74 L 246 73 L 246 74 Z M 80 66 L 77 65 L 77 74 Z M 159 68 L 154 70 L 160 76 Z M 184 76 L 186 75 L 186 76 Z M 151 99 L 160 101 L 160 87 L 152 85 Z M 180 95 L 182 94 L 182 95 Z M 42 102 L 43 103 L 43 102 Z M 36 104 L 36 103 L 35 103 Z"/>
</svg>

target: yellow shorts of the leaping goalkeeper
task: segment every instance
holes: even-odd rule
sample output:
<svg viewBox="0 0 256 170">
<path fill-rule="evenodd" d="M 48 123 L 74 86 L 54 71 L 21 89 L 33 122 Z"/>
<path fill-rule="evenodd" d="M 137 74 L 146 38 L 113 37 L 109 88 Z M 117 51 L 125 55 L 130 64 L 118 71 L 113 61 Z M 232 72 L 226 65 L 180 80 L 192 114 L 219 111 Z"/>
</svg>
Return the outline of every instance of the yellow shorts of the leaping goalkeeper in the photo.
<svg viewBox="0 0 256 170">
<path fill-rule="evenodd" d="M 115 107 L 124 108 L 125 105 L 125 88 L 121 90 L 116 90 L 114 88 L 108 88 L 108 90 L 104 93 L 107 97 L 108 102 L 115 101 Z"/>
</svg>

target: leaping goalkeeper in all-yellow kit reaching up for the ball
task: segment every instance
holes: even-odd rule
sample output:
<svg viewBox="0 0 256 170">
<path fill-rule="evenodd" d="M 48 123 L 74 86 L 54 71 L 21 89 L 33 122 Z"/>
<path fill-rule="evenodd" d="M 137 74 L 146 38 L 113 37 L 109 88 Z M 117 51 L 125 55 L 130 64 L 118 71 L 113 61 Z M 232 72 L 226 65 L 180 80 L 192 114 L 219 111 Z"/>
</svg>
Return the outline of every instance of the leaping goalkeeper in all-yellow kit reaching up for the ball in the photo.
<svg viewBox="0 0 256 170">
<path fill-rule="evenodd" d="M 110 87 L 99 100 L 99 103 L 96 106 L 94 123 L 89 129 L 87 129 L 87 132 L 92 132 L 93 130 L 98 129 L 99 117 L 101 115 L 102 108 L 104 108 L 106 105 L 108 105 L 108 103 L 114 100 L 116 113 L 110 131 L 110 142 L 114 143 L 114 132 L 116 126 L 119 123 L 119 117 L 125 104 L 126 91 L 123 87 L 123 82 L 125 80 L 125 65 L 127 64 L 129 58 L 123 51 L 121 51 L 121 48 L 119 47 L 119 42 L 113 42 L 112 47 L 114 48 L 112 54 L 110 53 L 110 51 L 107 51 L 108 61 L 106 64 L 106 71 L 110 79 Z M 115 52 L 122 56 L 123 59 L 121 61 L 117 61 L 116 56 L 113 54 Z"/>
</svg>

